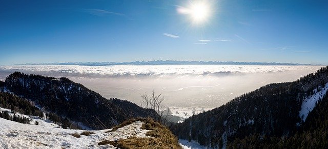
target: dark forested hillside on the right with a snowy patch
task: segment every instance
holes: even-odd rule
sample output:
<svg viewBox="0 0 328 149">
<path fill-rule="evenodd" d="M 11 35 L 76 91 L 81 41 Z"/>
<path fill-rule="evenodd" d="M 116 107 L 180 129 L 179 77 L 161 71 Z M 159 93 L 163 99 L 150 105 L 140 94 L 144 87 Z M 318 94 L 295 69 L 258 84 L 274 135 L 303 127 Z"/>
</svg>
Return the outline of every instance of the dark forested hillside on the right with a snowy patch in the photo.
<svg viewBox="0 0 328 149">
<path fill-rule="evenodd" d="M 322 104 L 325 104 L 328 90 L 327 77 L 328 67 L 324 67 L 294 82 L 268 84 L 236 97 L 219 108 L 174 124 L 171 130 L 181 139 L 195 140 L 214 148 L 273 146 L 277 143 L 272 141 L 275 138 L 295 139 L 296 135 L 306 133 L 309 128 L 326 133 L 322 128 L 326 125 L 322 113 L 328 111 Z M 316 106 L 318 104 L 321 106 Z M 313 119 L 316 119 L 316 123 Z M 319 139 L 320 135 L 311 134 L 312 139 Z"/>
</svg>

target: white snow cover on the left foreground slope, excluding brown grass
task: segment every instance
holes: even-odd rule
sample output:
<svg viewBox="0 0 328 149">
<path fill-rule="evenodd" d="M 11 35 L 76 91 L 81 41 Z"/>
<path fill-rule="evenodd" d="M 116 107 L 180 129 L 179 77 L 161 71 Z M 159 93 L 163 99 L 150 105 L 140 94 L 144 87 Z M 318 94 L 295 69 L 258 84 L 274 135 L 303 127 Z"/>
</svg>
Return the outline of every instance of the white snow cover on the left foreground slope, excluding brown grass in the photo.
<svg viewBox="0 0 328 149">
<path fill-rule="evenodd" d="M 38 119 L 39 125 L 22 124 L 0 118 L 0 148 L 116 148 L 112 145 L 97 145 L 103 140 L 117 141 L 128 137 L 149 137 L 148 130 L 140 129 L 143 122 L 136 121 L 114 132 L 93 131 L 89 136 L 73 137 L 83 130 L 66 130 Z"/>
</svg>

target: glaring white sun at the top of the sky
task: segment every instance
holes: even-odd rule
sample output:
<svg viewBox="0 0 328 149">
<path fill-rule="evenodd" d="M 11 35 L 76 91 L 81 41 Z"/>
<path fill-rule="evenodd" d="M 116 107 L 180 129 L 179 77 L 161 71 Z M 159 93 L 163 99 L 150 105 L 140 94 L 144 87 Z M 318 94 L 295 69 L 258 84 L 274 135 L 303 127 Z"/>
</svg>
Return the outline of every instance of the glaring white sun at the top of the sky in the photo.
<svg viewBox="0 0 328 149">
<path fill-rule="evenodd" d="M 208 1 L 192 1 L 187 7 L 178 6 L 177 8 L 177 12 L 188 15 L 193 24 L 207 22 L 211 11 L 211 5 Z"/>
</svg>

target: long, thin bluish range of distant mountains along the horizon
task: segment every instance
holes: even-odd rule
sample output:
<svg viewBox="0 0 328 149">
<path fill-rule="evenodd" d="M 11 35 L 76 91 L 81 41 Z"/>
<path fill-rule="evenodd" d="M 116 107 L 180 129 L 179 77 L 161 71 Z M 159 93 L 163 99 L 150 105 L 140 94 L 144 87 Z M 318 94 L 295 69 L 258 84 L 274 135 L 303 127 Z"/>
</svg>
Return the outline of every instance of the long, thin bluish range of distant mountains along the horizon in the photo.
<svg viewBox="0 0 328 149">
<path fill-rule="evenodd" d="M 179 61 L 179 60 L 151 60 L 132 62 L 53 62 L 53 63 L 25 63 L 23 65 L 80 65 L 80 66 L 111 66 L 111 65 L 263 65 L 263 66 L 311 66 L 311 64 L 288 62 L 235 62 L 235 61 Z"/>
</svg>

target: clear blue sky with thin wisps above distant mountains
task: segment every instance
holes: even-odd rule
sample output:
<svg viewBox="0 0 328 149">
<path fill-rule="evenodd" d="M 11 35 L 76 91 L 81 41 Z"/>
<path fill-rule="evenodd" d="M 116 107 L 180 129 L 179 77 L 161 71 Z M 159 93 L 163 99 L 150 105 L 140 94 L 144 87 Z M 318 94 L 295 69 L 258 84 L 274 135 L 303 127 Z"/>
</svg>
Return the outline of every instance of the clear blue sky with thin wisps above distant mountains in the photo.
<svg viewBox="0 0 328 149">
<path fill-rule="evenodd" d="M 0 65 L 204 60 L 328 64 L 327 1 L 0 1 Z"/>
</svg>

